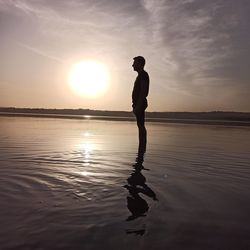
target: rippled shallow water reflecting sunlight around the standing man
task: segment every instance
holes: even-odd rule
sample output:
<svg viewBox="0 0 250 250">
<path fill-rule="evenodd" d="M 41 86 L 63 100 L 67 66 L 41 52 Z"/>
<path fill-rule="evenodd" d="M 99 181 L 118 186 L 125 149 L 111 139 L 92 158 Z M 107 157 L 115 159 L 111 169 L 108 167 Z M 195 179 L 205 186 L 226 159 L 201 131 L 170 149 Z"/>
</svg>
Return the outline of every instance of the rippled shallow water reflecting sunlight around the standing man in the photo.
<svg viewBox="0 0 250 250">
<path fill-rule="evenodd" d="M 135 176 L 135 122 L 0 117 L 0 248 L 250 249 L 250 128 L 147 132 Z"/>
</svg>

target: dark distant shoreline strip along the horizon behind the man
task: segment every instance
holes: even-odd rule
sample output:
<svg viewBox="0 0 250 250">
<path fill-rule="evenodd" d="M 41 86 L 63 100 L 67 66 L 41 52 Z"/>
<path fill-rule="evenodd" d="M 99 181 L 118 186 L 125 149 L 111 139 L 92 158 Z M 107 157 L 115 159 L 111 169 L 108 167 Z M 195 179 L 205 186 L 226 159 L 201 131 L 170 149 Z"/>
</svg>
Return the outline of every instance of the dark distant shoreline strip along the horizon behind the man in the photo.
<svg viewBox="0 0 250 250">
<path fill-rule="evenodd" d="M 25 111 L 25 112 L 24 112 Z M 70 114 L 71 112 L 71 114 Z M 73 113 L 73 114 L 72 114 Z M 160 116 L 161 115 L 161 116 Z M 0 108 L 0 116 L 82 120 L 134 121 L 131 112 L 65 109 Z M 239 112 L 147 112 L 147 122 L 224 126 L 250 126 L 250 113 Z"/>
</svg>

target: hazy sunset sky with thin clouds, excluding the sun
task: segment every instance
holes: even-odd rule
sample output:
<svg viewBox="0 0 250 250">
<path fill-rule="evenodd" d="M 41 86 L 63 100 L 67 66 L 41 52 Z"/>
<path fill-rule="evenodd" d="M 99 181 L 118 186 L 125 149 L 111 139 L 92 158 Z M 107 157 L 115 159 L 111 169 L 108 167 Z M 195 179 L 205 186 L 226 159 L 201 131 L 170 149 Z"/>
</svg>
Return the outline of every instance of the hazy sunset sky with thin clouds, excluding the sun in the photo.
<svg viewBox="0 0 250 250">
<path fill-rule="evenodd" d="M 148 111 L 250 112 L 249 0 L 0 0 L 0 106 L 131 110 L 146 58 Z M 76 95 L 68 74 L 106 66 L 109 87 Z"/>
</svg>

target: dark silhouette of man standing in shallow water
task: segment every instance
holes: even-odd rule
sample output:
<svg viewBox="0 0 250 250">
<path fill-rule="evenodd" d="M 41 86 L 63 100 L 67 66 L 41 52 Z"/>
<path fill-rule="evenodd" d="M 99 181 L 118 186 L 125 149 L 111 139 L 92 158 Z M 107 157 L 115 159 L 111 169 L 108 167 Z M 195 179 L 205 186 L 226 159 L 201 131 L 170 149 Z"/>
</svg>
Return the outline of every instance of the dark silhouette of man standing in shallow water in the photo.
<svg viewBox="0 0 250 250">
<path fill-rule="evenodd" d="M 148 107 L 147 96 L 149 91 L 149 75 L 144 70 L 145 62 L 144 57 L 137 56 L 134 57 L 134 63 L 132 65 L 134 71 L 138 73 L 132 92 L 132 107 L 139 130 L 139 151 L 145 151 L 147 143 L 145 110 Z"/>
</svg>

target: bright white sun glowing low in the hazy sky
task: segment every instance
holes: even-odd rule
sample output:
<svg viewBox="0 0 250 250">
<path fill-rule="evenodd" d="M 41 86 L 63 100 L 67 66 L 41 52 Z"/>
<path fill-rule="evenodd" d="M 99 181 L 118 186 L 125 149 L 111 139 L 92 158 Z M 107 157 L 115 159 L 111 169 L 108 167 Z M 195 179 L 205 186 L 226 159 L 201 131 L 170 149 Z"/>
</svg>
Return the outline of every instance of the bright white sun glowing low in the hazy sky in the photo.
<svg viewBox="0 0 250 250">
<path fill-rule="evenodd" d="M 68 80 L 75 94 L 97 97 L 107 90 L 109 73 L 104 64 L 96 61 L 82 61 L 72 65 Z"/>
</svg>

